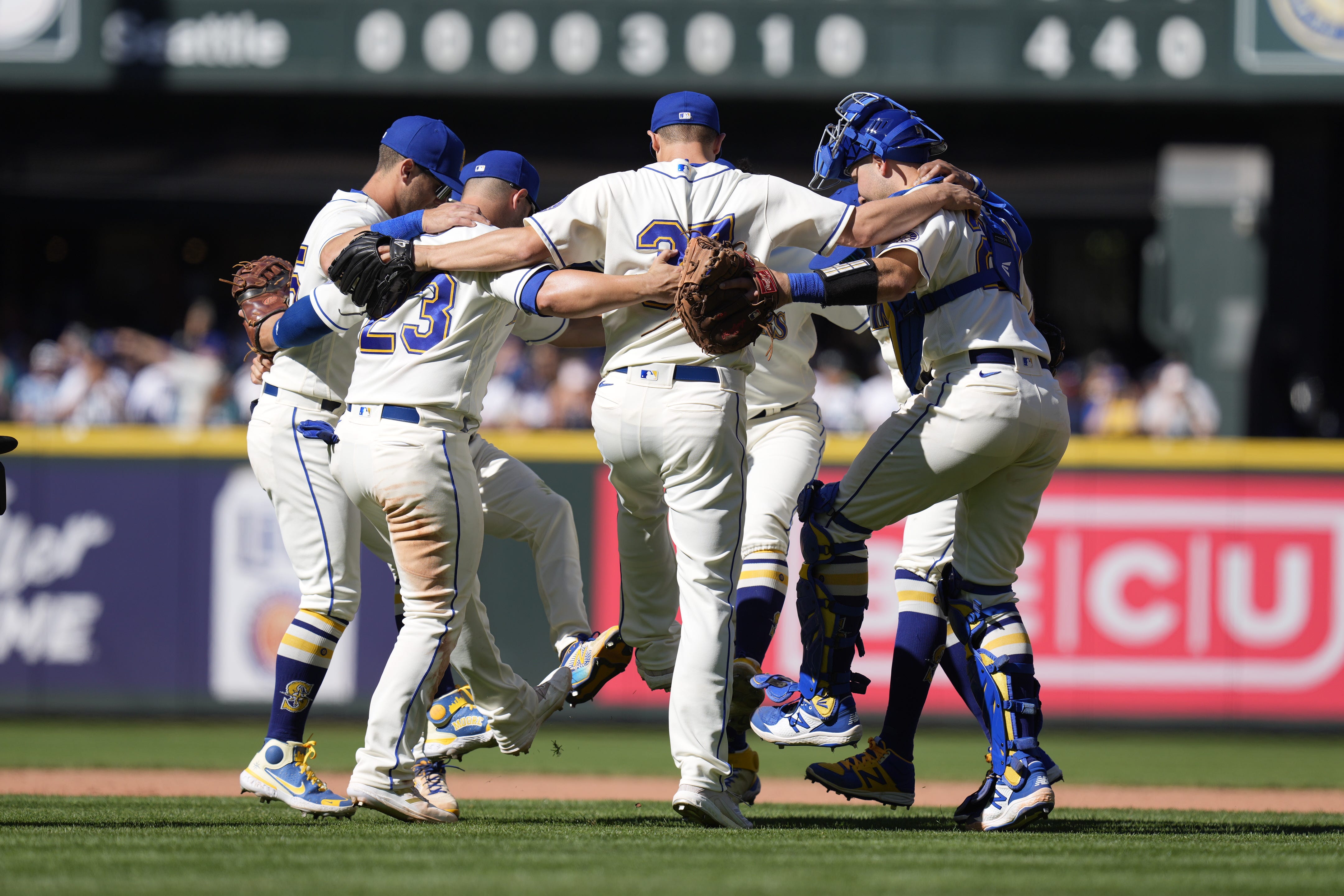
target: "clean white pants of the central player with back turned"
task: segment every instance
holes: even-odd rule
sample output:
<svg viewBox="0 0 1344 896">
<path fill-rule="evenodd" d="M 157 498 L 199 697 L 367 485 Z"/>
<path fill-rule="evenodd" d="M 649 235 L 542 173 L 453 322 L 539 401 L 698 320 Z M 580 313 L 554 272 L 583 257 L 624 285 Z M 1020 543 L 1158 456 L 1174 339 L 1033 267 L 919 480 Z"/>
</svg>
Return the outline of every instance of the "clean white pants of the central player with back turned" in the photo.
<svg viewBox="0 0 1344 896">
<path fill-rule="evenodd" d="M 683 783 L 723 790 L 746 375 L 708 369 L 718 383 L 673 380 L 672 364 L 609 373 L 593 429 L 618 496 L 622 637 L 645 678 L 673 669 L 668 732 Z"/>
</svg>

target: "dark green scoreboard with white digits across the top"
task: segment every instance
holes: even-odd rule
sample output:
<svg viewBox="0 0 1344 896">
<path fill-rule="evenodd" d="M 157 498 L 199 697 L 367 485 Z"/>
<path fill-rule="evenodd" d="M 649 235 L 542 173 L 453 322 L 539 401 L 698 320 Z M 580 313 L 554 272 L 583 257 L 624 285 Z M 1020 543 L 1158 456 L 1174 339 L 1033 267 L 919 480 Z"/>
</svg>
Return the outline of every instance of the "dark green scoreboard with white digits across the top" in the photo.
<svg viewBox="0 0 1344 896">
<path fill-rule="evenodd" d="M 1344 98 L 1340 0 L 26 0 L 0 90 Z"/>
</svg>

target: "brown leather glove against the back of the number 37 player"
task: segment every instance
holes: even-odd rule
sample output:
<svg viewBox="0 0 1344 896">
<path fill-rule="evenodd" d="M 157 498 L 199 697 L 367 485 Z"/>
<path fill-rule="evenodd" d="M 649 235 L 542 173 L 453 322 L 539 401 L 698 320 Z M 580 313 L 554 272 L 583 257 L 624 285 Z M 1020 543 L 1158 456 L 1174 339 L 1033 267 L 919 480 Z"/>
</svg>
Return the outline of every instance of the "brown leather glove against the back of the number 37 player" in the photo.
<svg viewBox="0 0 1344 896">
<path fill-rule="evenodd" d="M 676 289 L 676 316 L 695 344 L 707 355 L 728 355 L 761 336 L 774 312 L 780 286 L 765 267 L 741 249 L 711 236 L 695 236 L 681 257 L 681 281 Z M 723 283 L 754 277 L 757 294 L 723 289 Z"/>
</svg>

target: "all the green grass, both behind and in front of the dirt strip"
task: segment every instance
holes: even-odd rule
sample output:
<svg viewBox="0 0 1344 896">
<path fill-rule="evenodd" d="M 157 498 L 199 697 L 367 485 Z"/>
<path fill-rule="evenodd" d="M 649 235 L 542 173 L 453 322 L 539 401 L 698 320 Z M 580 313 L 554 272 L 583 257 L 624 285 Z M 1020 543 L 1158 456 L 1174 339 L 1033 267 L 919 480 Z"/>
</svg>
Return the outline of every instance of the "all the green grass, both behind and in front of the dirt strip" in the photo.
<svg viewBox="0 0 1344 896">
<path fill-rule="evenodd" d="M 317 719 L 319 771 L 352 764 L 363 728 Z M 520 759 L 470 771 L 667 775 L 661 727 L 548 727 Z M 241 768 L 259 723 L 0 720 L 0 775 L 23 767 Z M 1070 731 L 1046 742 L 1068 780 L 1341 787 L 1331 735 Z M 759 748 L 759 744 L 758 744 Z M 974 731 L 929 727 L 921 775 L 982 775 Z M 797 776 L 828 751 L 761 750 Z M 835 758 L 839 758 L 836 755 Z M 595 793 L 594 798 L 602 794 Z M 702 830 L 665 801 L 472 801 L 462 822 L 372 811 L 309 821 L 238 798 L 0 795 L 4 893 L 1337 893 L 1344 815 L 1058 809 L 1025 832 L 958 832 L 945 807 L 758 805 L 751 832 Z"/>
</svg>

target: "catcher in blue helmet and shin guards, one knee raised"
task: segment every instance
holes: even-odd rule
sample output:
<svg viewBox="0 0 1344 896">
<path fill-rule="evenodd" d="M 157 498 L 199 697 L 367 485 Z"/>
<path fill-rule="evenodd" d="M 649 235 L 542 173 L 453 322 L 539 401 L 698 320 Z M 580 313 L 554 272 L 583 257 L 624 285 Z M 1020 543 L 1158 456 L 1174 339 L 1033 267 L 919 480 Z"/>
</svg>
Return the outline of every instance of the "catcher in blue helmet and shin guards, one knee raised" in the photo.
<svg viewBox="0 0 1344 896">
<path fill-rule="evenodd" d="M 852 176 L 864 197 L 929 188 L 915 184 L 918 168 L 946 144 L 922 120 L 878 94 L 852 94 L 837 110 L 817 152 L 818 179 Z M 1031 320 L 1019 231 L 1007 203 L 985 203 L 978 218 L 939 212 L 875 247 L 875 258 L 781 285 L 784 301 L 880 306 L 907 384 L 918 388 L 925 371 L 930 382 L 878 429 L 840 482 L 813 481 L 800 496 L 800 700 L 759 709 L 753 728 L 790 743 L 857 740 L 849 666 L 867 607 L 866 539 L 960 494 L 957 566 L 943 568 L 938 596 L 973 652 L 992 735 L 993 782 L 964 822 L 978 830 L 1020 827 L 1054 807 L 1036 744 L 1039 684 L 1012 583 L 1068 443 L 1068 414 Z M 833 783 L 855 785 L 875 764 L 913 791 L 913 766 L 878 740 L 836 766 L 844 782 Z"/>
</svg>

